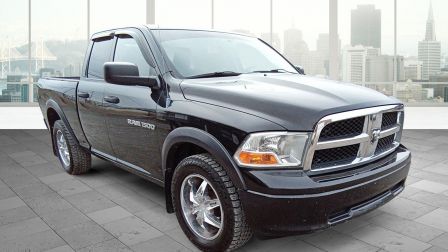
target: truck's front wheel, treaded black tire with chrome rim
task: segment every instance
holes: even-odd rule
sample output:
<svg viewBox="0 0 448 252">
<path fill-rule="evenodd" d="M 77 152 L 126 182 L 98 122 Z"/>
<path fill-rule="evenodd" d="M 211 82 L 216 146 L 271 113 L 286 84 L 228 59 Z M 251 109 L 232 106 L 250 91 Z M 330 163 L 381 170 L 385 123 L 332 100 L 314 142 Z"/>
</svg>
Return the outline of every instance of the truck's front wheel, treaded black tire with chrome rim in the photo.
<svg viewBox="0 0 448 252">
<path fill-rule="evenodd" d="M 198 225 L 194 224 L 199 224 L 200 221 L 197 217 L 194 219 L 194 215 L 188 213 L 188 210 L 194 210 L 195 206 L 192 204 L 189 205 L 190 208 L 188 207 L 188 202 L 193 202 L 194 200 L 191 201 L 191 195 L 187 195 L 185 191 L 191 193 L 197 188 L 194 195 L 198 195 L 197 192 L 202 185 L 201 180 L 209 183 L 209 186 L 207 187 L 208 189 L 206 189 L 207 192 L 203 193 L 208 196 L 204 198 L 215 199 L 215 197 L 210 196 L 215 193 L 217 196 L 216 198 L 220 201 L 219 209 L 215 206 L 213 210 L 206 210 L 214 211 L 212 213 L 213 216 L 219 216 L 214 218 L 215 220 L 219 220 L 221 224 L 221 228 L 219 228 L 219 231 L 217 231 L 216 234 L 214 232 L 209 232 L 205 234 L 203 233 L 201 236 L 201 232 L 197 232 L 195 229 L 201 230 L 203 229 L 202 227 L 206 227 L 208 230 L 215 231 L 218 230 L 218 228 L 208 225 L 207 221 L 203 221 L 202 227 L 199 225 L 199 227 L 195 228 L 194 226 Z M 195 181 L 198 181 L 197 183 L 200 184 L 199 187 L 194 185 L 196 183 Z M 186 189 L 183 190 L 182 188 L 184 187 L 189 187 L 192 191 Z M 185 197 L 183 195 L 187 196 Z M 177 220 L 179 221 L 182 230 L 187 235 L 188 239 L 203 251 L 231 251 L 243 246 L 252 237 L 252 230 L 246 222 L 245 213 L 242 209 L 237 189 L 223 167 L 209 154 L 190 156 L 179 163 L 173 174 L 171 197 L 174 211 L 176 212 Z M 207 199 L 202 200 L 203 202 L 207 202 Z M 208 201 L 210 200 L 211 199 L 208 199 Z M 196 201 L 199 202 L 200 200 L 197 199 Z M 196 209 L 201 209 L 199 205 L 196 206 Z M 184 211 L 184 209 L 187 209 L 187 211 Z M 191 210 L 191 212 L 196 211 L 193 210 Z M 216 214 L 216 211 L 220 211 L 220 214 Z M 198 215 L 200 215 L 200 210 L 198 212 Z M 193 217 L 188 218 L 187 216 Z M 214 236 L 210 237 L 212 236 L 210 235 L 209 237 L 205 237 L 209 234 L 214 234 Z"/>
</svg>

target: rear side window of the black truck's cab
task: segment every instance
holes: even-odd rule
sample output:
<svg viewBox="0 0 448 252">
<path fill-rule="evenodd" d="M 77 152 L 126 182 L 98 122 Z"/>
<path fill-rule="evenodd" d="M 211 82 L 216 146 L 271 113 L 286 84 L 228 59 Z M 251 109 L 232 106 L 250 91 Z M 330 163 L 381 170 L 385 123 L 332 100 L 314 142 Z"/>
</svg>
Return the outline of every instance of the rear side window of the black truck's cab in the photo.
<svg viewBox="0 0 448 252">
<path fill-rule="evenodd" d="M 93 43 L 89 59 L 89 68 L 87 69 L 87 77 L 104 78 L 104 63 L 109 61 L 112 42 L 113 40 L 109 39 Z"/>
</svg>

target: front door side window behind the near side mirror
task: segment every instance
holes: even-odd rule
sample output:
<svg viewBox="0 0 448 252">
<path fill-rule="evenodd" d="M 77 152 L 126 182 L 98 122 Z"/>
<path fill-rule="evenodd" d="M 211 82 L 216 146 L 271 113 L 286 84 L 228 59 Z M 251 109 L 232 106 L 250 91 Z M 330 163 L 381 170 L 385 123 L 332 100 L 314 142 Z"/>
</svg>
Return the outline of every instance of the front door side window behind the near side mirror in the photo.
<svg viewBox="0 0 448 252">
<path fill-rule="evenodd" d="M 120 37 L 115 48 L 115 62 L 129 62 L 137 65 L 140 76 L 156 75 L 152 68 L 143 57 L 137 42 L 132 37 Z"/>
</svg>

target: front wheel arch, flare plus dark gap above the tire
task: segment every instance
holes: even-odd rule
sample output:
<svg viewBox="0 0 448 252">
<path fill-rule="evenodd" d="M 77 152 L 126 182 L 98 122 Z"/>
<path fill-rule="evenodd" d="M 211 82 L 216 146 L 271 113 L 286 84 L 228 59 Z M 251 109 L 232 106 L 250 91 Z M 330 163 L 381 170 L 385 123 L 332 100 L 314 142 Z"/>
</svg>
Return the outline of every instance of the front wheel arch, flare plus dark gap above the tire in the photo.
<svg viewBox="0 0 448 252">
<path fill-rule="evenodd" d="M 187 156 L 203 152 L 207 152 L 216 158 L 238 190 L 246 189 L 241 171 L 218 139 L 210 133 L 197 128 L 177 128 L 168 134 L 162 147 L 162 173 L 164 176 L 167 212 L 172 213 L 174 211 L 171 202 L 171 180 L 177 164 Z"/>
</svg>

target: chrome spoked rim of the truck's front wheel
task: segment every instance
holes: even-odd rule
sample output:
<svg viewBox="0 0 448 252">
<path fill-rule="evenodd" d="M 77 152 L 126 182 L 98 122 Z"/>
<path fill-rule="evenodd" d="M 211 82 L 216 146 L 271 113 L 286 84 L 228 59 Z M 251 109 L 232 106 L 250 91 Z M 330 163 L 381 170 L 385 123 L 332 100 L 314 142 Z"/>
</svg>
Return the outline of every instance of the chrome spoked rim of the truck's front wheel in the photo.
<svg viewBox="0 0 448 252">
<path fill-rule="evenodd" d="M 187 176 L 180 190 L 182 214 L 199 237 L 213 240 L 223 229 L 224 212 L 215 188 L 199 174 Z"/>
</svg>

